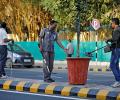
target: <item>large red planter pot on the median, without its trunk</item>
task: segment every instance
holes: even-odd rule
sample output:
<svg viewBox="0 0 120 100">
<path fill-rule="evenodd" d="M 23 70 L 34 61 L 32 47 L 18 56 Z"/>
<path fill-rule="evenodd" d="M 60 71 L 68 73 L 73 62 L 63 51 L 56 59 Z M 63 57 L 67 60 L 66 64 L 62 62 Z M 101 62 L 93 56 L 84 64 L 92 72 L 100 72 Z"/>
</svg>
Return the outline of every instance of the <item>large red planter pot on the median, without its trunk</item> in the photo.
<svg viewBox="0 0 120 100">
<path fill-rule="evenodd" d="M 90 58 L 67 58 L 69 84 L 86 84 Z"/>
</svg>

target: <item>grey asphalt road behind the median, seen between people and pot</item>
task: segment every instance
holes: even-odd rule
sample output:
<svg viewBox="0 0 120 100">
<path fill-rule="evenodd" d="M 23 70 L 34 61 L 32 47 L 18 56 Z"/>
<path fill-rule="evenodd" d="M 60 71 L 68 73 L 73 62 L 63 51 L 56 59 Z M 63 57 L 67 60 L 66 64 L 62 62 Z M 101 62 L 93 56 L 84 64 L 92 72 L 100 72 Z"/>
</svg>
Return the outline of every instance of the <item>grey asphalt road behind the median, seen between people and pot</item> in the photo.
<svg viewBox="0 0 120 100">
<path fill-rule="evenodd" d="M 6 72 L 8 76 L 11 76 L 10 69 L 7 69 Z M 12 77 L 43 80 L 43 72 L 40 68 L 13 69 Z M 67 70 L 55 70 L 52 74 L 52 77 L 56 80 L 56 82 L 68 82 Z M 87 83 L 89 84 L 110 86 L 114 81 L 115 79 L 112 72 L 88 73 Z"/>
</svg>

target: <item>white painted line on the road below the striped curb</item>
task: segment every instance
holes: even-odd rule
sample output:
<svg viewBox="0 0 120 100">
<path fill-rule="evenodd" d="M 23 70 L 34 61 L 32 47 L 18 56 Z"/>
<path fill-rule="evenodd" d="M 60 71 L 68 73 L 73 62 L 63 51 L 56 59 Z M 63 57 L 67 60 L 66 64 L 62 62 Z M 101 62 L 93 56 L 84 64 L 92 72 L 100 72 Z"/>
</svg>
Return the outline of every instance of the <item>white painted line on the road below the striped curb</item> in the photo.
<svg viewBox="0 0 120 100">
<path fill-rule="evenodd" d="M 89 99 L 80 99 L 80 98 L 73 98 L 73 97 L 63 97 L 63 96 L 55 96 L 55 95 L 46 95 L 46 94 L 34 94 L 28 92 L 18 92 L 18 91 L 8 91 L 8 90 L 0 90 L 2 92 L 9 92 L 9 93 L 17 93 L 17 94 L 27 94 L 27 95 L 35 95 L 35 96 L 43 96 L 43 97 L 51 97 L 51 98 L 61 98 L 61 99 L 68 99 L 68 100 L 89 100 Z"/>
</svg>

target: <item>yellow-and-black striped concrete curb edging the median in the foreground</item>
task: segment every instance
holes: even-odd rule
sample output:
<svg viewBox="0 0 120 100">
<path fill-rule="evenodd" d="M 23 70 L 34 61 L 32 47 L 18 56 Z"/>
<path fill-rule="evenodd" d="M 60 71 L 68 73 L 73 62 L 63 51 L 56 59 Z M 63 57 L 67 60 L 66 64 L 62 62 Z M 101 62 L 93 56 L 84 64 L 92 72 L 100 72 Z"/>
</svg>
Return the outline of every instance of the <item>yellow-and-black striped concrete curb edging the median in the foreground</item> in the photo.
<svg viewBox="0 0 120 100">
<path fill-rule="evenodd" d="M 75 96 L 80 98 L 96 98 L 96 100 L 120 100 L 120 92 L 60 86 L 57 83 L 33 83 L 29 81 L 0 80 L 0 89 L 20 92 L 43 93 L 49 95 Z"/>
</svg>

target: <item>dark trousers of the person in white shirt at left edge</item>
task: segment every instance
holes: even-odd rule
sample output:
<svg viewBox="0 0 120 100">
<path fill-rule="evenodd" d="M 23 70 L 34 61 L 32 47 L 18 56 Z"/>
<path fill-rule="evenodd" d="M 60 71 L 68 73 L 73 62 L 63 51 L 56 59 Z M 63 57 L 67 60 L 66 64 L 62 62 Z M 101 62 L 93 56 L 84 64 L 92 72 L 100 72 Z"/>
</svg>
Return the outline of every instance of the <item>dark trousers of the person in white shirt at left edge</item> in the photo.
<svg viewBox="0 0 120 100">
<path fill-rule="evenodd" d="M 0 45 L 0 77 L 5 74 L 5 63 L 7 60 L 7 46 L 6 45 Z"/>
</svg>

